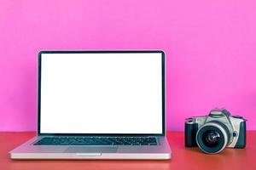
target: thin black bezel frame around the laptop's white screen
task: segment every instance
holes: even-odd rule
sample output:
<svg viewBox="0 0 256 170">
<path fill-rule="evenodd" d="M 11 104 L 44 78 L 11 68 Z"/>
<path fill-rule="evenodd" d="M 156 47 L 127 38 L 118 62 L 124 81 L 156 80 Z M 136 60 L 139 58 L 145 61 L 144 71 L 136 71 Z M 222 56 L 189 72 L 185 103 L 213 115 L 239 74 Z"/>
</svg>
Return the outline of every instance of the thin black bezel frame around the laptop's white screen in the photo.
<svg viewBox="0 0 256 170">
<path fill-rule="evenodd" d="M 162 91 L 162 132 L 161 133 L 41 133 L 41 68 L 42 54 L 161 54 L 161 91 Z M 165 136 L 166 135 L 166 64 L 162 50 L 99 50 L 99 51 L 40 51 L 38 53 L 38 136 Z"/>
</svg>

